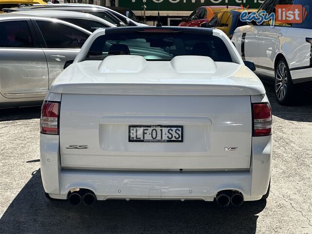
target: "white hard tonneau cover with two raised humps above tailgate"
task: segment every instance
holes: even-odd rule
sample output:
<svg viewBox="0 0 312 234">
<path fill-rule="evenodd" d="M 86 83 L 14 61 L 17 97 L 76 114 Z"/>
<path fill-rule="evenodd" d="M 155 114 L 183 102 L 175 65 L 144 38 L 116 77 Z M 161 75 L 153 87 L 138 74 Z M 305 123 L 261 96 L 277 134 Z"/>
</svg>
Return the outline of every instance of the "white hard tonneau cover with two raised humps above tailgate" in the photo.
<svg viewBox="0 0 312 234">
<path fill-rule="evenodd" d="M 201 67 L 201 64 L 205 66 Z M 261 81 L 247 67 L 236 63 L 214 62 L 209 57 L 201 56 L 146 61 L 140 56 L 121 55 L 110 56 L 103 61 L 83 61 L 66 69 L 55 80 L 50 91 L 99 95 L 265 94 Z"/>
</svg>

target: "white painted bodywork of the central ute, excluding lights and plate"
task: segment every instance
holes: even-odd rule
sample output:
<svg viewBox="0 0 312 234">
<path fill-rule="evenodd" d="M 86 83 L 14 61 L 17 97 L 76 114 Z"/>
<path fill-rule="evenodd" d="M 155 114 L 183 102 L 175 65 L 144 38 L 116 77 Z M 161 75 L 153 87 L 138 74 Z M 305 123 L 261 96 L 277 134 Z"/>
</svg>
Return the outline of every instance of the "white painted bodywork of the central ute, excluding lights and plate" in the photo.
<svg viewBox="0 0 312 234">
<path fill-rule="evenodd" d="M 272 137 L 252 137 L 251 103 L 268 98 L 226 35 L 215 31 L 228 40 L 237 63 L 131 55 L 82 61 L 95 35 L 104 32 L 88 39 L 46 97 L 61 103 L 59 136 L 40 134 L 45 192 L 66 199 L 71 189 L 86 188 L 98 200 L 205 201 L 228 189 L 246 201 L 266 194 Z M 184 141 L 128 142 L 132 124 L 183 125 Z M 88 149 L 66 149 L 71 144 Z"/>
</svg>

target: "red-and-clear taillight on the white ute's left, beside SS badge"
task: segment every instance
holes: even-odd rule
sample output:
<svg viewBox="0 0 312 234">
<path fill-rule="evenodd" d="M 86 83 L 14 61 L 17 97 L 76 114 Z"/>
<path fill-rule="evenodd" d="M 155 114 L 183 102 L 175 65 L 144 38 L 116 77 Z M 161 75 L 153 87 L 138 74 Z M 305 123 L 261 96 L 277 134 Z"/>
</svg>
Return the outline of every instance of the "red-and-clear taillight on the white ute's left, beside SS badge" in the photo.
<svg viewBox="0 0 312 234">
<path fill-rule="evenodd" d="M 59 102 L 46 101 L 42 104 L 40 133 L 59 135 Z"/>
</svg>

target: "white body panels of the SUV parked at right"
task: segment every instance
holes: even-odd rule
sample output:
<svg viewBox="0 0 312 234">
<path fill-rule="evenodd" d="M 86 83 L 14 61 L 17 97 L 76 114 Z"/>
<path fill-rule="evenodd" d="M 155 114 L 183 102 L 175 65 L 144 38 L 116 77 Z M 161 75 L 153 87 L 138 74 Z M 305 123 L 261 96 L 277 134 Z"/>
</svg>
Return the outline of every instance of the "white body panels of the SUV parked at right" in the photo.
<svg viewBox="0 0 312 234">
<path fill-rule="evenodd" d="M 254 62 L 256 72 L 274 78 L 278 60 L 286 59 L 293 83 L 312 81 L 310 66 L 312 30 L 304 28 L 246 25 L 235 30 L 232 41 L 242 55 L 242 36 L 245 36 L 245 59 Z"/>
</svg>

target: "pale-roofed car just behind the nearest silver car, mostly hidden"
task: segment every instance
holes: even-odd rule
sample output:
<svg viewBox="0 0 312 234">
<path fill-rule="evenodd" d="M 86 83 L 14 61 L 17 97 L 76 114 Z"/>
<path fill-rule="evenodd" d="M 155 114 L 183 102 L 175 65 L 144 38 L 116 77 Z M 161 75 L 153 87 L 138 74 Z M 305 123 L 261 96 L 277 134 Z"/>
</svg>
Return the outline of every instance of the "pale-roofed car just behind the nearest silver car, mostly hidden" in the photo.
<svg viewBox="0 0 312 234">
<path fill-rule="evenodd" d="M 116 27 L 114 24 L 103 20 L 97 16 L 76 12 L 76 11 L 58 11 L 58 10 L 32 10 L 32 11 L 16 11 L 8 14 L 27 14 L 32 16 L 50 17 L 73 23 L 90 32 L 94 32 L 98 28 Z"/>
</svg>

